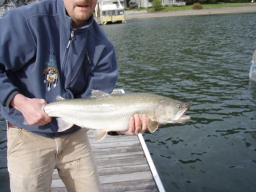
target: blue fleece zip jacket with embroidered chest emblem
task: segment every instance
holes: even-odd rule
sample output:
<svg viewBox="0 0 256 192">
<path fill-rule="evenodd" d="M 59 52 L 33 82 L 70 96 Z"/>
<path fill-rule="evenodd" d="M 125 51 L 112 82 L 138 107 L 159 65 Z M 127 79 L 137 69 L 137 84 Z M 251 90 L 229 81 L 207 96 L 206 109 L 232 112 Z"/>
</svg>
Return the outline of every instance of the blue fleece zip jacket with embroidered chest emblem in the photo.
<svg viewBox="0 0 256 192">
<path fill-rule="evenodd" d="M 20 111 L 10 106 L 18 92 L 47 103 L 57 95 L 90 97 L 91 89 L 111 92 L 117 81 L 114 46 L 93 16 L 73 30 L 62 0 L 45 0 L 8 11 L 0 19 L 1 117 L 41 136 L 57 133 L 56 119 L 45 126 L 23 125 Z"/>
</svg>

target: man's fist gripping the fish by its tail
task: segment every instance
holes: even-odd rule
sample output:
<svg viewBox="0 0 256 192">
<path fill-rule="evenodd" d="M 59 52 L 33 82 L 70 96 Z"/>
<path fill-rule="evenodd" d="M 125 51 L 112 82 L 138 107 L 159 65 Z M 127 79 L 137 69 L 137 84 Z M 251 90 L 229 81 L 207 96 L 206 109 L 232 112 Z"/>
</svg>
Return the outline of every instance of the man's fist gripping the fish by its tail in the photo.
<svg viewBox="0 0 256 192">
<path fill-rule="evenodd" d="M 43 99 L 30 99 L 21 94 L 15 95 L 10 103 L 12 107 L 21 111 L 29 125 L 38 126 L 51 122 L 51 117 L 48 117 L 43 110 L 46 104 L 46 101 Z"/>
</svg>

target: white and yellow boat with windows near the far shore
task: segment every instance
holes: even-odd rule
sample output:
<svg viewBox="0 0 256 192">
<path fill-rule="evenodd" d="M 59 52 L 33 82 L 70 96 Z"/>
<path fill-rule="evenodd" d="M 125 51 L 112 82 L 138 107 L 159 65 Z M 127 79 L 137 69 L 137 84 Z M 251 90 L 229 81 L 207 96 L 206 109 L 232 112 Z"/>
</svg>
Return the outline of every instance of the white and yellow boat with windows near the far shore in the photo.
<svg viewBox="0 0 256 192">
<path fill-rule="evenodd" d="M 103 0 L 98 6 L 100 24 L 125 23 L 125 10 L 120 0 Z"/>
</svg>

